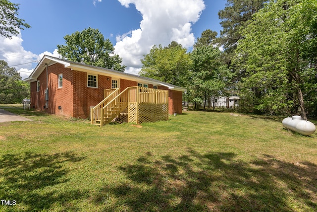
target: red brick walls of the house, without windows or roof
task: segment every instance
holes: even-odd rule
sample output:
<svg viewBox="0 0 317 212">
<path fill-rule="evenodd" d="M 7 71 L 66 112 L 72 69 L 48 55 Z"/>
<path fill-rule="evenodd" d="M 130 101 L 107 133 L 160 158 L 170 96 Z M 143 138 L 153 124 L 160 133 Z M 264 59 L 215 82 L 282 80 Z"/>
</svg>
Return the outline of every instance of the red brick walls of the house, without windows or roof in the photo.
<svg viewBox="0 0 317 212">
<path fill-rule="evenodd" d="M 58 88 L 58 74 L 63 74 L 63 86 Z M 111 77 L 98 75 L 98 88 L 87 87 L 87 73 L 64 68 L 61 64 L 48 67 L 49 83 L 49 113 L 89 118 L 90 106 L 96 106 L 104 99 L 104 89 L 111 88 Z M 107 80 L 109 78 L 109 80 Z M 37 82 L 31 83 L 31 107 L 44 110 L 46 89 L 46 68 L 38 77 L 40 91 L 37 90 Z M 130 86 L 137 86 L 137 81 L 120 79 L 120 88 L 123 91 Z M 149 84 L 149 87 L 153 87 Z M 168 87 L 158 86 L 158 89 L 168 90 Z M 169 114 L 182 113 L 182 92 L 169 90 L 168 95 Z M 60 107 L 60 109 L 58 109 Z"/>
</svg>

